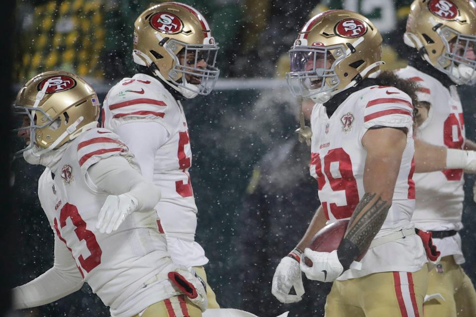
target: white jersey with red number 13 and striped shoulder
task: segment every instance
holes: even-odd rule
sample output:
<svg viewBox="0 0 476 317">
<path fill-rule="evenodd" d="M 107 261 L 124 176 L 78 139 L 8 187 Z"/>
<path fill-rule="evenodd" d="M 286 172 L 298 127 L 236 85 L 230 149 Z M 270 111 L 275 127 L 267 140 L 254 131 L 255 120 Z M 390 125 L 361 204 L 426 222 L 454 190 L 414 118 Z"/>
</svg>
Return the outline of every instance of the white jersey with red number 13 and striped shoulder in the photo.
<svg viewBox="0 0 476 317">
<path fill-rule="evenodd" d="M 92 184 L 87 169 L 115 155 L 133 166 L 127 146 L 103 128 L 87 130 L 67 144 L 59 163 L 41 175 L 38 196 L 54 233 L 71 251 L 84 280 L 110 306 L 113 317 L 138 314 L 177 295 L 167 278 L 175 265 L 154 210 L 132 213 L 112 234 L 96 229 L 109 193 Z"/>
</svg>

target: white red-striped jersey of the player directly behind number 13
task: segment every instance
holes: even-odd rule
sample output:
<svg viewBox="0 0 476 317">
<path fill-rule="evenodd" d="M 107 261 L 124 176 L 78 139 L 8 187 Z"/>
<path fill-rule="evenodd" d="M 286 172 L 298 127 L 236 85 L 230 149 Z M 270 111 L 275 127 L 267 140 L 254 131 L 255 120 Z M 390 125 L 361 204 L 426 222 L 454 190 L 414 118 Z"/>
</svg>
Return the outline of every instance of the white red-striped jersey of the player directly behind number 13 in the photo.
<svg viewBox="0 0 476 317">
<path fill-rule="evenodd" d="M 124 139 L 127 137 L 118 128 L 128 123 L 156 122 L 167 129 L 168 139 L 156 150 L 154 159 L 153 183 L 162 194 L 156 210 L 167 233 L 173 260 L 187 266 L 206 264 L 208 259 L 203 249 L 194 241 L 197 206 L 188 173 L 192 152 L 180 103 L 158 79 L 139 73 L 111 88 L 102 116 L 103 127 Z M 133 144 L 127 145 L 133 148 Z"/>
</svg>

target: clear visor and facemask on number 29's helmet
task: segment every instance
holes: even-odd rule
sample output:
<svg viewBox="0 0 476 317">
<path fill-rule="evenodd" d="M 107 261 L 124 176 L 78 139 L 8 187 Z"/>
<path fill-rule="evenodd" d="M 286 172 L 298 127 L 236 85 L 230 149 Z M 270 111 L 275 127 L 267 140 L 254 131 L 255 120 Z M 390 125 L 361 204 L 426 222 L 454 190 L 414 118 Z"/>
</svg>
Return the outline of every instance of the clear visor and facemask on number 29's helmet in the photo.
<svg viewBox="0 0 476 317">
<path fill-rule="evenodd" d="M 286 74 L 291 92 L 303 98 L 332 90 L 339 85 L 335 66 L 344 58 L 342 46 L 298 47 L 289 51 L 290 72 Z M 334 56 L 342 56 L 334 58 Z"/>
</svg>

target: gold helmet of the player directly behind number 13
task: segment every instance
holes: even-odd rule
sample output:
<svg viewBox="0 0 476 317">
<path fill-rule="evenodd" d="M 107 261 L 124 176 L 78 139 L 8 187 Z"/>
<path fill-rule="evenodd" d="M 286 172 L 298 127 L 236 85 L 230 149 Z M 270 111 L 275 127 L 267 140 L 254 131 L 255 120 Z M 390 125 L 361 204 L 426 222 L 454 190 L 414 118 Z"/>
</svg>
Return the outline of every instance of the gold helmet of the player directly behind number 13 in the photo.
<svg viewBox="0 0 476 317">
<path fill-rule="evenodd" d="M 142 12 L 134 26 L 135 63 L 149 67 L 186 98 L 212 91 L 220 73 L 215 67 L 218 45 L 200 12 L 164 2 Z"/>
</svg>

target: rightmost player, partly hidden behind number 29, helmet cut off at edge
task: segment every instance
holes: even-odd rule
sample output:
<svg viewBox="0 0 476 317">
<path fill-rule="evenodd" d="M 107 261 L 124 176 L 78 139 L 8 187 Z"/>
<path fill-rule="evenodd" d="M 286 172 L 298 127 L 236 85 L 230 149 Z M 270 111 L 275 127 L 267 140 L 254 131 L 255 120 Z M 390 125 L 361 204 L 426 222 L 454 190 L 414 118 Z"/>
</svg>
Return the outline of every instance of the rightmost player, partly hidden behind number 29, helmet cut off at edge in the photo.
<svg viewBox="0 0 476 317">
<path fill-rule="evenodd" d="M 461 268 L 465 262 L 458 231 L 464 200 L 463 169 L 476 144 L 465 137 L 463 108 L 456 85 L 476 83 L 476 2 L 473 0 L 416 0 L 411 5 L 404 36 L 415 48 L 409 65 L 397 73 L 416 81 L 416 172 L 431 172 L 435 162 L 425 147 L 444 147 L 446 170 L 416 174 L 416 227 L 431 231 L 441 262 L 430 271 L 428 295 L 441 294 L 424 304 L 424 316 L 476 316 L 475 288 Z M 446 150 L 447 149 L 447 150 Z M 418 157 L 420 156 L 420 158 Z"/>
</svg>

